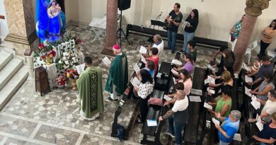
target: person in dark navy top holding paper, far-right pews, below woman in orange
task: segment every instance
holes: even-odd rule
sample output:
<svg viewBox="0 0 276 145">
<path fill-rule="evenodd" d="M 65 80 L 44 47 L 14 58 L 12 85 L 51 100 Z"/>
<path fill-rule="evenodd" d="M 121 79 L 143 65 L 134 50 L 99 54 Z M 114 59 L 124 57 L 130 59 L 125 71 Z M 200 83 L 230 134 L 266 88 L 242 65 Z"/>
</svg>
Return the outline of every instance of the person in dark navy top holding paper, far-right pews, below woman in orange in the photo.
<svg viewBox="0 0 276 145">
<path fill-rule="evenodd" d="M 264 74 L 273 74 L 273 69 L 274 69 L 274 64 L 270 62 L 270 57 L 267 55 L 261 57 L 263 61 L 263 65 L 260 66 L 259 71 L 257 74 L 255 74 L 255 78 L 253 82 L 248 82 L 248 85 L 252 86 L 253 88 L 256 88 L 257 86 L 260 85 L 260 83 L 263 81 L 263 76 Z M 247 75 L 247 76 L 252 76 L 252 75 Z"/>
</svg>

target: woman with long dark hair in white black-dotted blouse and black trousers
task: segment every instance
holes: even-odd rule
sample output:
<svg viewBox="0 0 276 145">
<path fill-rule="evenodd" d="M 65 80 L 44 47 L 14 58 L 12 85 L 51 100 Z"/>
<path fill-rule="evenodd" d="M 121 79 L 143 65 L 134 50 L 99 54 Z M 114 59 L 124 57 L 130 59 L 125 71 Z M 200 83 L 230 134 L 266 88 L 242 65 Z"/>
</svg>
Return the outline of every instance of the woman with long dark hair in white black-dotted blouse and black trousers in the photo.
<svg viewBox="0 0 276 145">
<path fill-rule="evenodd" d="M 134 86 L 134 95 L 139 98 L 139 107 L 141 118 L 137 123 L 143 123 L 146 121 L 146 115 L 148 113 L 148 100 L 150 98 L 151 93 L 154 91 L 154 79 L 151 78 L 149 71 L 142 69 L 140 71 L 141 74 L 141 83 L 139 86 Z"/>
</svg>

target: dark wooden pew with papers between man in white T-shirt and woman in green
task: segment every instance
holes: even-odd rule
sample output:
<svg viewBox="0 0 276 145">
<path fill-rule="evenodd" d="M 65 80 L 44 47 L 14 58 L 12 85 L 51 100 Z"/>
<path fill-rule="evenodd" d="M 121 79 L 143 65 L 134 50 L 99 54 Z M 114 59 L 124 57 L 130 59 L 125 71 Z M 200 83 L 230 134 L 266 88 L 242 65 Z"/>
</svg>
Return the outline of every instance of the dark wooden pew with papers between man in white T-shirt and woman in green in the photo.
<svg viewBox="0 0 276 145">
<path fill-rule="evenodd" d="M 199 67 L 195 67 L 194 77 L 192 79 L 192 91 L 190 95 L 200 95 L 202 98 L 202 90 L 204 88 L 205 71 Z M 201 91 L 201 93 L 200 93 Z M 189 120 L 185 127 L 184 141 L 185 144 L 197 144 L 198 128 L 200 123 L 201 103 L 189 102 Z"/>
</svg>

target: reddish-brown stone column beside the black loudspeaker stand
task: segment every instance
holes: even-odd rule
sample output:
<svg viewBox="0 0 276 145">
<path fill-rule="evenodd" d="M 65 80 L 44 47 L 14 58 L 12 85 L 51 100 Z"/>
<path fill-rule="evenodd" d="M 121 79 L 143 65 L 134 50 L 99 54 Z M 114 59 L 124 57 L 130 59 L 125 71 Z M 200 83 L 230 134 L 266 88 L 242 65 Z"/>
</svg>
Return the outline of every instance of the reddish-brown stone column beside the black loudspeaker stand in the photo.
<svg viewBox="0 0 276 145">
<path fill-rule="evenodd" d="M 112 47 L 117 40 L 117 8 L 118 0 L 108 0 L 107 22 L 106 22 L 106 42 L 103 46 L 102 54 L 114 55 Z"/>
</svg>

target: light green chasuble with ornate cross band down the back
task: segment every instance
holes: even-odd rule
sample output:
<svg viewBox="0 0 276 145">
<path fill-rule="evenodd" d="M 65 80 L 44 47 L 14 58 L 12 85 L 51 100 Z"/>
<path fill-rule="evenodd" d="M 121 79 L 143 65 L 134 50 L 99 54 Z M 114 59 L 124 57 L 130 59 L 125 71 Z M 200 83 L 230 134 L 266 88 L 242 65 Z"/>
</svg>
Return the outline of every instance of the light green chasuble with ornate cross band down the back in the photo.
<svg viewBox="0 0 276 145">
<path fill-rule="evenodd" d="M 103 112 L 103 80 L 100 67 L 89 67 L 76 81 L 79 90 L 79 105 L 83 117 L 90 119 Z"/>
</svg>

